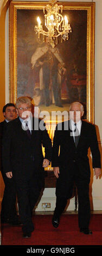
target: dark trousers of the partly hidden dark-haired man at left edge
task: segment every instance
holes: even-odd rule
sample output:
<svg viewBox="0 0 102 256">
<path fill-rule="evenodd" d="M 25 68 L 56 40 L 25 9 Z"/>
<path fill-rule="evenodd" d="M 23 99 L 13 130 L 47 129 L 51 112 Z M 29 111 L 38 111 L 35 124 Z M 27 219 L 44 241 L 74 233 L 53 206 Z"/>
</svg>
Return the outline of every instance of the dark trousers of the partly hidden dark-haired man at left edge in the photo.
<svg viewBox="0 0 102 256">
<path fill-rule="evenodd" d="M 1 210 L 1 220 L 2 221 L 14 221 L 17 216 L 16 212 L 16 186 L 14 179 L 7 178 L 6 174 L 2 171 L 2 176 L 5 184 L 3 200 L 2 200 L 2 210 Z"/>
</svg>

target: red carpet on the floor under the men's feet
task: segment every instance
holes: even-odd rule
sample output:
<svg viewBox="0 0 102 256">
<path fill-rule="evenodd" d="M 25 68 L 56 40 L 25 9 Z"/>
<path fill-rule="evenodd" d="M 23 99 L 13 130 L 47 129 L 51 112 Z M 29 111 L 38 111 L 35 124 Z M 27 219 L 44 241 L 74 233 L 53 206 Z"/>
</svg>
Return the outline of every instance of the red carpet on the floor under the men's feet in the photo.
<svg viewBox="0 0 102 256">
<path fill-rule="evenodd" d="M 78 215 L 62 215 L 60 225 L 52 226 L 52 215 L 33 216 L 35 230 L 29 239 L 22 237 L 22 227 L 2 225 L 2 245 L 102 245 L 102 215 L 91 215 L 92 235 L 80 233 Z"/>
</svg>

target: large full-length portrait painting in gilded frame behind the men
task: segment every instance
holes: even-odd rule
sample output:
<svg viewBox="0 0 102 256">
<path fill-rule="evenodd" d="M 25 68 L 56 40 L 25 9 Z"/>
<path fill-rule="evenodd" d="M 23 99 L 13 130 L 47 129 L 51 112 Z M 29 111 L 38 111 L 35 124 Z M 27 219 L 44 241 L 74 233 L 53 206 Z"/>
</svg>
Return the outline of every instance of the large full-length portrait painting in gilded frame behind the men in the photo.
<svg viewBox="0 0 102 256">
<path fill-rule="evenodd" d="M 94 3 L 67 3 L 72 32 L 52 48 L 35 33 L 37 16 L 44 27 L 44 2 L 11 2 L 10 101 L 26 95 L 40 111 L 69 111 L 73 101 L 94 121 Z M 51 120 L 52 121 L 52 120 Z"/>
</svg>

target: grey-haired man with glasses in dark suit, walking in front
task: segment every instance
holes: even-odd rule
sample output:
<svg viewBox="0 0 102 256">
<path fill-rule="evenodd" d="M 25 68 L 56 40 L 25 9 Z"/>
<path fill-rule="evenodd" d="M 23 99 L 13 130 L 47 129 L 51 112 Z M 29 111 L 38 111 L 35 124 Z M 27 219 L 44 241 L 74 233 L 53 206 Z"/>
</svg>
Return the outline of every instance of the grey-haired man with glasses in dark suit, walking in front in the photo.
<svg viewBox="0 0 102 256">
<path fill-rule="evenodd" d="M 43 186 L 44 167 L 52 159 L 52 142 L 41 120 L 31 118 L 28 97 L 17 99 L 16 111 L 18 118 L 10 122 L 3 140 L 3 169 L 15 180 L 23 237 L 30 237 L 34 230 L 31 215 Z"/>
</svg>

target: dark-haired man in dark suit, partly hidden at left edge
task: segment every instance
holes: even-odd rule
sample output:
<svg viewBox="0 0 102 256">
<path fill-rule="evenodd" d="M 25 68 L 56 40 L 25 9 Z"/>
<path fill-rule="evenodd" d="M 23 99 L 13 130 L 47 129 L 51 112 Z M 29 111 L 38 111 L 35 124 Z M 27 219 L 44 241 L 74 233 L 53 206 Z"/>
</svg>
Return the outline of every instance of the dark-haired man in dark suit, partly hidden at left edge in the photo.
<svg viewBox="0 0 102 256">
<path fill-rule="evenodd" d="M 0 147 L 2 153 L 2 140 L 5 131 L 7 130 L 7 125 L 9 121 L 16 118 L 16 108 L 14 103 L 7 103 L 3 107 L 3 115 L 5 120 L 0 123 Z M 2 156 L 0 157 L 2 159 Z M 1 210 L 1 223 L 9 223 L 18 225 L 20 220 L 17 216 L 16 211 L 16 187 L 14 180 L 7 178 L 7 175 L 3 172 L 2 160 L 1 160 L 1 172 L 5 184 L 3 200 L 2 200 L 2 210 Z"/>
</svg>

